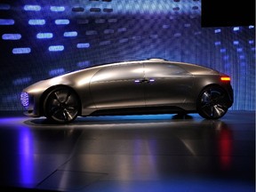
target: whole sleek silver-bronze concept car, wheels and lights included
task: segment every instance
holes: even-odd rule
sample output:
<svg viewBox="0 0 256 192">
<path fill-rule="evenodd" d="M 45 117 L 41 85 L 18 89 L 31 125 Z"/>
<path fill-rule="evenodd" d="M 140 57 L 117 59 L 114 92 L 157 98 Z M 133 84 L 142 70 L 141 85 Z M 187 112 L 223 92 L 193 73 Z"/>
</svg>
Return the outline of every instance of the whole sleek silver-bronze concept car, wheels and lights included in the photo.
<svg viewBox="0 0 256 192">
<path fill-rule="evenodd" d="M 138 60 L 85 68 L 25 88 L 28 116 L 69 123 L 76 116 L 198 113 L 224 116 L 233 104 L 230 77 L 212 68 L 168 60 Z"/>
</svg>

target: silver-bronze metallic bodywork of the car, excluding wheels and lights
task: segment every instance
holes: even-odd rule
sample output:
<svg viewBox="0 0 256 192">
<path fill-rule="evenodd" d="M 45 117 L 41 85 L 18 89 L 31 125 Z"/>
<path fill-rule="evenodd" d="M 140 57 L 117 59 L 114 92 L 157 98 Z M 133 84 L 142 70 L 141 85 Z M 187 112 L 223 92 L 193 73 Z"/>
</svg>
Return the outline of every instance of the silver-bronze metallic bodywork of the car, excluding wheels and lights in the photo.
<svg viewBox="0 0 256 192">
<path fill-rule="evenodd" d="M 81 114 L 90 116 L 105 109 L 168 108 L 196 111 L 196 100 L 204 87 L 219 84 L 233 103 L 230 84 L 212 68 L 167 60 L 139 60 L 85 68 L 32 84 L 26 115 L 44 116 L 45 95 L 56 86 L 72 88 L 81 101 Z M 147 110 L 147 108 L 145 108 Z M 147 111 L 145 111 L 147 112 Z M 96 113 L 97 114 L 97 113 Z"/>
</svg>

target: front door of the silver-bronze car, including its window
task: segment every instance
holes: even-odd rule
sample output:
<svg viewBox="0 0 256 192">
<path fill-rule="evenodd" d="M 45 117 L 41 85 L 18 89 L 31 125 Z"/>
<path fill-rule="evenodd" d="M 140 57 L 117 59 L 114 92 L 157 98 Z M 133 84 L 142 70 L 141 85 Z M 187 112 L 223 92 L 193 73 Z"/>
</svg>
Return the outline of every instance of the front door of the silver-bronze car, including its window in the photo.
<svg viewBox="0 0 256 192">
<path fill-rule="evenodd" d="M 92 77 L 90 90 L 98 109 L 144 107 L 143 64 L 114 65 L 100 69 Z"/>
</svg>

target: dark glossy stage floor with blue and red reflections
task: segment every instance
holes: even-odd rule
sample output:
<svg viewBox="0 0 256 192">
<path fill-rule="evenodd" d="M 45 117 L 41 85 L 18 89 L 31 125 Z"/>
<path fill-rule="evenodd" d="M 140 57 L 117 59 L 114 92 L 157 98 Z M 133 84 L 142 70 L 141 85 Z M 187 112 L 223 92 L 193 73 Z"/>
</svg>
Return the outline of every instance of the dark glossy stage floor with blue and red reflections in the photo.
<svg viewBox="0 0 256 192">
<path fill-rule="evenodd" d="M 255 113 L 0 119 L 1 191 L 255 191 Z"/>
</svg>

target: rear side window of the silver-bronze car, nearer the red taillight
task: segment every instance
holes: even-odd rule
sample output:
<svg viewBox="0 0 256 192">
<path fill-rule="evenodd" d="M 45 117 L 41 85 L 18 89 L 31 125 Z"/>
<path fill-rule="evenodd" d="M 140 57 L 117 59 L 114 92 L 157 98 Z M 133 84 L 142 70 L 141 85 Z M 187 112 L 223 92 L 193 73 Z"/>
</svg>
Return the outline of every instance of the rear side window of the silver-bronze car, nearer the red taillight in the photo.
<svg viewBox="0 0 256 192">
<path fill-rule="evenodd" d="M 145 63 L 145 75 L 154 77 L 186 76 L 188 71 L 172 63 Z"/>
</svg>

